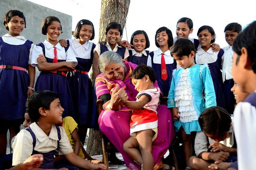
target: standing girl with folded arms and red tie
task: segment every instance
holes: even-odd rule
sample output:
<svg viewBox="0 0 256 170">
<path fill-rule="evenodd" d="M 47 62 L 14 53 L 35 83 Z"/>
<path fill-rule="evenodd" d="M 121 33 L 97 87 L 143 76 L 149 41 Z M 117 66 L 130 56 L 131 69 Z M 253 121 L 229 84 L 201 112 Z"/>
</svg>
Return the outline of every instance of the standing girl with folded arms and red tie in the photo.
<svg viewBox="0 0 256 170">
<path fill-rule="evenodd" d="M 34 46 L 31 65 L 41 71 L 35 89 L 50 90 L 58 93 L 64 108 L 63 117 L 74 115 L 71 90 L 66 77 L 77 65 L 75 54 L 69 46 L 62 47 L 57 39 L 61 34 L 61 22 L 55 16 L 47 16 L 42 23 L 41 32 L 47 40 Z"/>
</svg>

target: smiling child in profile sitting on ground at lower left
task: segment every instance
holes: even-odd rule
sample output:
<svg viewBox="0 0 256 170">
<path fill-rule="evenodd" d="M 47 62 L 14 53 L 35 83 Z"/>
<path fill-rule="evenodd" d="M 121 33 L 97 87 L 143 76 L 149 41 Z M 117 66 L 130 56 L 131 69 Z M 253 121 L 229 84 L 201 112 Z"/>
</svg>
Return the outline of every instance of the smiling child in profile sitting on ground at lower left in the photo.
<svg viewBox="0 0 256 170">
<path fill-rule="evenodd" d="M 104 164 L 93 164 L 75 155 L 64 129 L 55 126 L 62 122 L 64 111 L 58 94 L 47 90 L 37 91 L 30 95 L 27 104 L 34 123 L 17 134 L 13 143 L 13 166 L 31 155 L 43 154 L 44 161 L 39 168 L 54 169 L 54 153 L 57 149 L 58 154 L 64 155 L 73 166 L 89 170 L 106 169 Z"/>
</svg>

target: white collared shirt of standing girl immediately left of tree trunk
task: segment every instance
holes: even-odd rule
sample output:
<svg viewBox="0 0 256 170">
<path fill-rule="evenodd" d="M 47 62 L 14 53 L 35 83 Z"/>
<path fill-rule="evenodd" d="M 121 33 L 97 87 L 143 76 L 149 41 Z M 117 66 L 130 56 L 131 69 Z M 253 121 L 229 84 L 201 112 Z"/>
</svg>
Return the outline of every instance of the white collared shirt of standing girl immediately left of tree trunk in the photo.
<svg viewBox="0 0 256 170">
<path fill-rule="evenodd" d="M 91 48 L 93 47 L 92 42 L 85 42 L 83 45 L 78 42 L 77 39 L 68 39 L 69 45 L 72 48 L 77 58 L 90 59 Z"/>
</svg>

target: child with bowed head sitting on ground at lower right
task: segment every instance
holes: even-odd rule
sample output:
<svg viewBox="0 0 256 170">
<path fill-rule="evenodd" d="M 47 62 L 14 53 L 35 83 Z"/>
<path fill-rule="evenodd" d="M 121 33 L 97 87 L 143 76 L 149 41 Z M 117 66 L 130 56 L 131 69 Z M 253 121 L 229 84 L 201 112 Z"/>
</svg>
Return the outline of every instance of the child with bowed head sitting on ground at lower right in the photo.
<svg viewBox="0 0 256 170">
<path fill-rule="evenodd" d="M 205 170 L 211 163 L 237 160 L 232 119 L 221 107 L 210 107 L 202 112 L 198 119 L 201 131 L 195 137 L 197 157 L 189 159 L 192 169 Z"/>
</svg>

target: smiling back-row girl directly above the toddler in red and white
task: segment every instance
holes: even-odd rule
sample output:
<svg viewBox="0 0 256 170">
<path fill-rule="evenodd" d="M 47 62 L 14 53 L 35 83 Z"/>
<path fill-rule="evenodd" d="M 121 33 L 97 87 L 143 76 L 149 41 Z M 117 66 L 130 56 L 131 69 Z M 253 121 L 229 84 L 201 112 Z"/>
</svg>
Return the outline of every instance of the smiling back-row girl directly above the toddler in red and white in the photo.
<svg viewBox="0 0 256 170">
<path fill-rule="evenodd" d="M 149 48 L 149 39 L 148 35 L 143 30 L 137 30 L 131 35 L 131 47 L 129 50 L 129 57 L 127 61 L 130 61 L 133 64 L 146 64 L 147 66 L 152 67 L 151 57 L 149 56 L 149 51 L 145 50 Z"/>
</svg>

